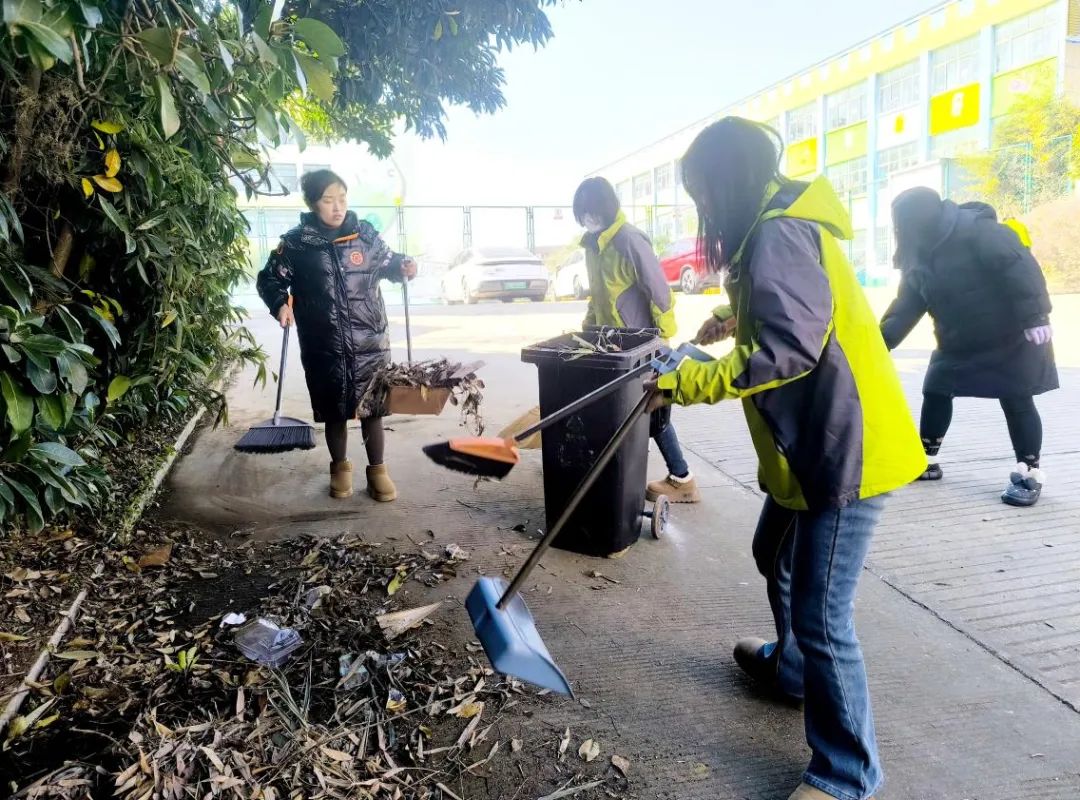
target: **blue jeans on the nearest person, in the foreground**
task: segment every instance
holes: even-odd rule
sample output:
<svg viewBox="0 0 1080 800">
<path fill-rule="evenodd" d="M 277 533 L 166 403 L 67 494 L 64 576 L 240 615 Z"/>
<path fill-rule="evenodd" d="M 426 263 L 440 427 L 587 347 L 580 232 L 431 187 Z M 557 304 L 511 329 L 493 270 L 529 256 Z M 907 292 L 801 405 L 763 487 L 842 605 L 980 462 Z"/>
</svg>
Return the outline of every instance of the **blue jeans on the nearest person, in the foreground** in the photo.
<svg viewBox="0 0 1080 800">
<path fill-rule="evenodd" d="M 885 498 L 794 512 L 765 502 L 754 558 L 767 581 L 777 641 L 761 656 L 780 689 L 805 699 L 812 757 L 802 779 L 840 800 L 881 785 L 866 668 L 855 638 L 855 587 Z"/>
</svg>

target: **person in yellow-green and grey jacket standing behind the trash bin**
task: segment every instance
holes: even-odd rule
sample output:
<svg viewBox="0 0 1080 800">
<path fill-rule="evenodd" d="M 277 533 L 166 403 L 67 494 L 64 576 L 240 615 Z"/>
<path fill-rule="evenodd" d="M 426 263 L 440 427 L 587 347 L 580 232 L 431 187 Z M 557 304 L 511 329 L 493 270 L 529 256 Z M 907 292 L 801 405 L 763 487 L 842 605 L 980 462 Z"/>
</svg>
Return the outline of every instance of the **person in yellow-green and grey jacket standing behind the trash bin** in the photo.
<svg viewBox="0 0 1080 800">
<path fill-rule="evenodd" d="M 573 216 L 585 229 L 589 272 L 589 310 L 585 327 L 657 328 L 662 339 L 675 336 L 675 295 L 667 285 L 652 243 L 626 221 L 615 188 L 604 178 L 589 178 L 573 195 Z M 667 466 L 667 477 L 646 487 L 646 499 L 661 494 L 673 503 L 701 500 L 698 482 L 690 473 L 671 412 L 658 409 L 649 433 Z"/>
</svg>

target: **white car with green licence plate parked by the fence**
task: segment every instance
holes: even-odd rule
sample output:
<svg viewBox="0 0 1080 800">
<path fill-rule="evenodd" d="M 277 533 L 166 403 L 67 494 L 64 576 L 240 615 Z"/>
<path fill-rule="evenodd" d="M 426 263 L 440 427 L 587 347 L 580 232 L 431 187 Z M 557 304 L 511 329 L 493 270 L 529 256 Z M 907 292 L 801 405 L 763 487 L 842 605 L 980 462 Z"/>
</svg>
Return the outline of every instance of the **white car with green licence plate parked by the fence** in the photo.
<svg viewBox="0 0 1080 800">
<path fill-rule="evenodd" d="M 522 247 L 470 247 L 450 261 L 443 275 L 443 302 L 481 300 L 540 302 L 548 295 L 548 268 Z"/>
</svg>

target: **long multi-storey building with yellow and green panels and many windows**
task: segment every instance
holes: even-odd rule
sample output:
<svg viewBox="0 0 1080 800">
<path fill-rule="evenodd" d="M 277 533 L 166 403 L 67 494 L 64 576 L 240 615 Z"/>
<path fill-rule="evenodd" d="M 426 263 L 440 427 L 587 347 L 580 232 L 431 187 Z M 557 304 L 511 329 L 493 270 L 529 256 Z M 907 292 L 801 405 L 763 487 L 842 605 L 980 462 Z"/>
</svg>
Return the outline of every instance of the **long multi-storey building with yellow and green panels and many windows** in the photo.
<svg viewBox="0 0 1080 800">
<path fill-rule="evenodd" d="M 864 282 L 890 276 L 892 196 L 945 193 L 955 159 L 986 150 L 1017 96 L 1080 101 L 1080 0 L 953 0 L 807 67 L 597 171 L 637 225 L 676 239 L 697 220 L 679 157 L 708 123 L 735 114 L 780 132 L 793 178 L 824 174 L 855 228 L 849 252 Z"/>
</svg>

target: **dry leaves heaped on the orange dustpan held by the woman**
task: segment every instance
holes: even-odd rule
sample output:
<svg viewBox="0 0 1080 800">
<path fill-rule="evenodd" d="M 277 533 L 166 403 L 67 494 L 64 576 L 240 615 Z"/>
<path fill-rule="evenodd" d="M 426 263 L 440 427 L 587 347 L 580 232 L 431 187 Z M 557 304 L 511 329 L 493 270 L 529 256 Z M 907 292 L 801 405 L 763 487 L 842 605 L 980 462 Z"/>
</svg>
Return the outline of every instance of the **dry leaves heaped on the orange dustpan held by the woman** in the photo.
<svg viewBox="0 0 1080 800">
<path fill-rule="evenodd" d="M 484 381 L 478 365 L 461 365 L 442 358 L 417 364 L 388 364 L 375 374 L 360 401 L 361 416 L 387 416 L 387 398 L 393 387 L 449 389 L 450 404 L 461 409 L 461 423 L 477 436 L 484 433 L 480 406 Z"/>
</svg>

